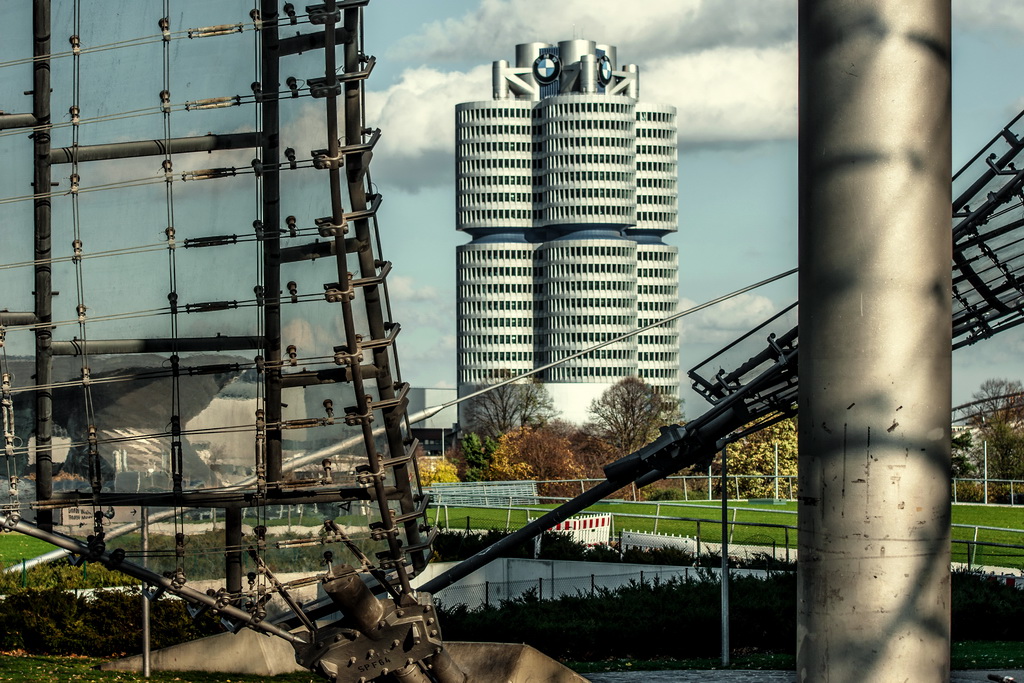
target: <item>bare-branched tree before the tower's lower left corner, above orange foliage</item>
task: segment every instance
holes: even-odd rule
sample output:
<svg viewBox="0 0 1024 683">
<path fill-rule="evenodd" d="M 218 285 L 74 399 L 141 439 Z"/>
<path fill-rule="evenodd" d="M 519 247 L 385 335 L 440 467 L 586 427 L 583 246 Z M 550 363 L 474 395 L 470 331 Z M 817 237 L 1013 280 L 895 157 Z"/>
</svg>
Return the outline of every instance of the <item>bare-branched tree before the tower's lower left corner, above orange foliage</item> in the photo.
<svg viewBox="0 0 1024 683">
<path fill-rule="evenodd" d="M 499 382 L 511 378 L 504 371 Z M 477 389 L 485 389 L 486 385 Z M 510 382 L 466 401 L 466 429 L 498 437 L 519 427 L 539 427 L 557 415 L 551 395 L 532 377 Z"/>
</svg>

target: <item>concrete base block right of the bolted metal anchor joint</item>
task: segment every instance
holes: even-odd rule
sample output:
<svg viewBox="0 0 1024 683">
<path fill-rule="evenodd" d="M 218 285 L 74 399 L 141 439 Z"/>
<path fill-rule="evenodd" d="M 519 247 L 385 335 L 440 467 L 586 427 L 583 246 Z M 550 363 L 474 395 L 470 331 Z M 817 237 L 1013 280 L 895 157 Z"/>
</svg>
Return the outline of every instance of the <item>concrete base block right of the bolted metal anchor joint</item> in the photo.
<svg viewBox="0 0 1024 683">
<path fill-rule="evenodd" d="M 510 643 L 444 643 L 470 681 L 495 683 L 586 683 L 580 674 L 563 667 L 529 645 Z"/>
</svg>

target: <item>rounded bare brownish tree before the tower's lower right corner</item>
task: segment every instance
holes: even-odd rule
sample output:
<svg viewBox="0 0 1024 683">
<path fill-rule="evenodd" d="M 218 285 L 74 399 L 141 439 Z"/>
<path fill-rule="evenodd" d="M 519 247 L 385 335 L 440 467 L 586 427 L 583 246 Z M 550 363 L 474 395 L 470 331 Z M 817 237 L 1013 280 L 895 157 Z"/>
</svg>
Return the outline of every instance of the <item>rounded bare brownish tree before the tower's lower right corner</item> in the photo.
<svg viewBox="0 0 1024 683">
<path fill-rule="evenodd" d="M 633 453 L 657 437 L 658 428 L 682 419 L 679 401 L 637 377 L 627 377 L 590 404 L 597 435 L 620 455 Z"/>
</svg>

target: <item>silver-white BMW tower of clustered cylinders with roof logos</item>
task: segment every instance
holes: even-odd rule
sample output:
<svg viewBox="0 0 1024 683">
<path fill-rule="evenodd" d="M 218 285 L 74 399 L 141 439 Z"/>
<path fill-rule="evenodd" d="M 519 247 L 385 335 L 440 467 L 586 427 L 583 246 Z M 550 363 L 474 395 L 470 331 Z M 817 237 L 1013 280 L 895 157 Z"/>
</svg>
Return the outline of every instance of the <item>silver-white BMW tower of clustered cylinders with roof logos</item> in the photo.
<svg viewBox="0 0 1024 683">
<path fill-rule="evenodd" d="M 456 108 L 458 383 L 555 362 L 676 312 L 676 110 L 588 40 L 516 46 L 494 98 Z M 561 416 L 625 377 L 679 397 L 675 324 L 540 374 Z"/>
</svg>

